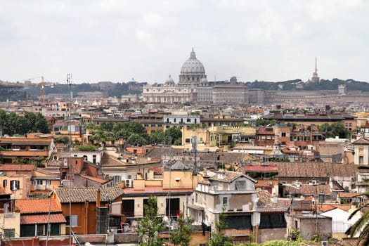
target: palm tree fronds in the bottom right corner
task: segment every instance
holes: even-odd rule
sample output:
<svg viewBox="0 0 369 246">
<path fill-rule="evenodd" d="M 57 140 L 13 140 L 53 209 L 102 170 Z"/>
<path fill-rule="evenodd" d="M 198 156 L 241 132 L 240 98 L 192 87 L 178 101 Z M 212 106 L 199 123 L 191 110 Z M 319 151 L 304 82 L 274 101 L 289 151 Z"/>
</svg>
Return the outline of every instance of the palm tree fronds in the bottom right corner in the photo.
<svg viewBox="0 0 369 246">
<path fill-rule="evenodd" d="M 369 191 L 366 191 L 364 193 L 361 193 L 359 195 L 355 195 L 354 198 L 364 196 L 365 198 L 369 198 Z M 361 242 L 363 245 L 369 245 L 369 203 L 359 205 L 358 208 L 352 212 L 349 216 L 349 219 L 351 219 L 357 212 L 362 212 L 361 218 L 358 219 L 352 226 L 347 229 L 345 232 L 346 235 L 349 235 L 351 238 L 354 238 L 354 236 L 357 233 L 360 233 L 358 236 L 358 242 L 356 242 L 356 245 L 359 245 Z"/>
</svg>

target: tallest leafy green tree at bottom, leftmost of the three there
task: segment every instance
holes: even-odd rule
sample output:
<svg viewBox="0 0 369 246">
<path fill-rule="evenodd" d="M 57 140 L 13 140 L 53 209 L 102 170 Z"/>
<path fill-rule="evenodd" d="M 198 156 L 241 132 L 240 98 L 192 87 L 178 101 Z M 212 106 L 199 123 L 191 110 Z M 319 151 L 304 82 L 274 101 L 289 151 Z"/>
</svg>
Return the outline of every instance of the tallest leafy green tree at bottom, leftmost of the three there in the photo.
<svg viewBox="0 0 369 246">
<path fill-rule="evenodd" d="M 151 195 L 148 204 L 143 206 L 145 217 L 138 221 L 138 240 L 141 246 L 161 246 L 162 238 L 159 233 L 163 230 L 162 218 L 157 216 L 157 197 Z"/>
</svg>

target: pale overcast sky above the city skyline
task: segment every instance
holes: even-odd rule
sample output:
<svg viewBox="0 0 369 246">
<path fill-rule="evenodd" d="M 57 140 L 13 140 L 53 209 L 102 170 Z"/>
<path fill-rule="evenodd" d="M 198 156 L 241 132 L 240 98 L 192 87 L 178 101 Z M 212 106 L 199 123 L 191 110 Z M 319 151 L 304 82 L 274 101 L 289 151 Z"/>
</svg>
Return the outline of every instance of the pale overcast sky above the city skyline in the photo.
<svg viewBox="0 0 369 246">
<path fill-rule="evenodd" d="M 0 1 L 0 80 L 178 82 L 192 47 L 209 81 L 369 82 L 369 1 Z M 39 82 L 39 79 L 34 79 Z"/>
</svg>

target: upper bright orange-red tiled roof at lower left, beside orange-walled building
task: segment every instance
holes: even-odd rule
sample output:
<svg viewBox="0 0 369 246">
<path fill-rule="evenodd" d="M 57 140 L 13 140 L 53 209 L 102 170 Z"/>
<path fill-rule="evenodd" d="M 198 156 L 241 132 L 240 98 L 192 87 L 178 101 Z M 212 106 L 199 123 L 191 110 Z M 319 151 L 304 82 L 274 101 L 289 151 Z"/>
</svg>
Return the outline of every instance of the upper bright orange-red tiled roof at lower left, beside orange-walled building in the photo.
<svg viewBox="0 0 369 246">
<path fill-rule="evenodd" d="M 20 199 L 15 200 L 15 206 L 20 210 L 20 214 L 37 214 L 48 212 L 61 212 L 61 208 L 54 199 Z"/>
</svg>

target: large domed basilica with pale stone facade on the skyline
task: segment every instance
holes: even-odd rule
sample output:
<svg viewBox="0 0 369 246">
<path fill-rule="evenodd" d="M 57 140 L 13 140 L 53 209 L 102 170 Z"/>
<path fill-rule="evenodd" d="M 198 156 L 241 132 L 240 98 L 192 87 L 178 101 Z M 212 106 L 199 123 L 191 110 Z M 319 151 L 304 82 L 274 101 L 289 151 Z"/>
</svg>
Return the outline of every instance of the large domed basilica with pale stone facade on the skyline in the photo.
<svg viewBox="0 0 369 246">
<path fill-rule="evenodd" d="M 207 82 L 205 67 L 191 51 L 190 58 L 183 63 L 179 74 L 179 83 L 169 78 L 165 84 L 147 84 L 143 86 L 142 100 L 148 103 L 186 103 L 198 98 L 197 87 Z"/>
</svg>

